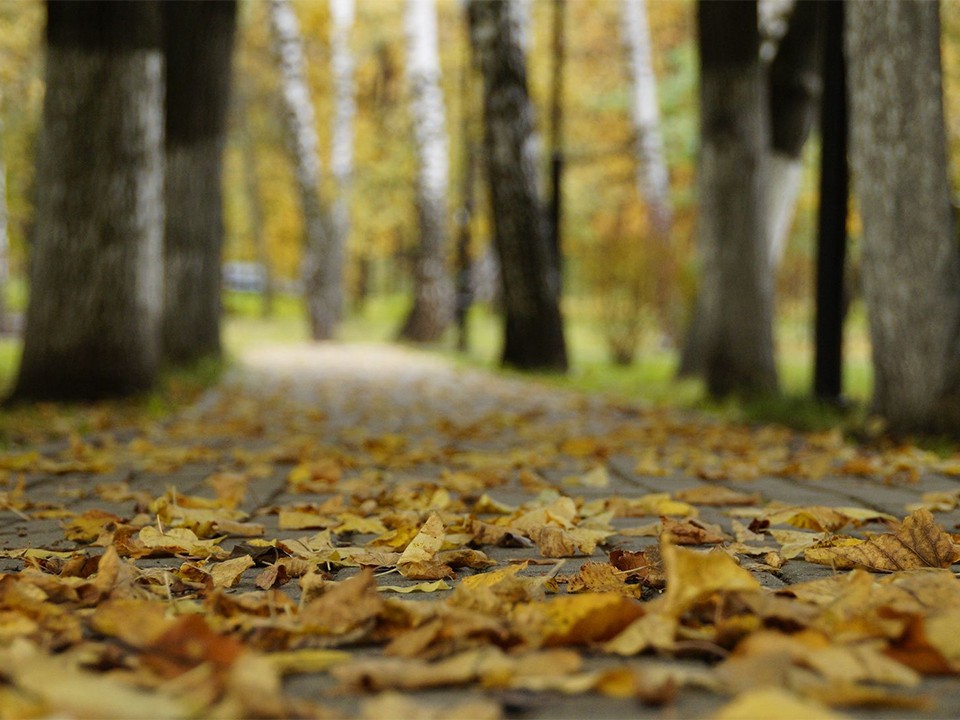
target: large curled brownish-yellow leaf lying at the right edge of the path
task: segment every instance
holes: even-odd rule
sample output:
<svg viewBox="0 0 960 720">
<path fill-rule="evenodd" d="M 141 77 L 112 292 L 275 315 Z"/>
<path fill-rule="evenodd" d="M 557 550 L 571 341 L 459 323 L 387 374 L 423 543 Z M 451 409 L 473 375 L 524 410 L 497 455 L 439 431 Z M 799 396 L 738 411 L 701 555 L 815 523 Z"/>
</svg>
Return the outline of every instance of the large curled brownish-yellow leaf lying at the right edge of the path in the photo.
<svg viewBox="0 0 960 720">
<path fill-rule="evenodd" d="M 893 533 L 851 545 L 822 545 L 804 553 L 808 562 L 838 568 L 862 567 L 894 572 L 911 568 L 945 568 L 960 560 L 951 536 L 926 508 L 907 516 Z"/>
</svg>

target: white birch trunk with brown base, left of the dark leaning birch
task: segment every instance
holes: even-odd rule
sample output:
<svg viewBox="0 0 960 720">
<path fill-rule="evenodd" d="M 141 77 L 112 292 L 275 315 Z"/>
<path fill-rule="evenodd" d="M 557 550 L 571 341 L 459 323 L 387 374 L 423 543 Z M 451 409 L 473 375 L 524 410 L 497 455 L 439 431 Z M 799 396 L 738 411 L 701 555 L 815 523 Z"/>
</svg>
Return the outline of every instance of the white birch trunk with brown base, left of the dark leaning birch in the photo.
<svg viewBox="0 0 960 720">
<path fill-rule="evenodd" d="M 449 153 L 434 0 L 407 0 L 407 77 L 417 146 L 417 218 L 420 242 L 414 258 L 413 308 L 400 337 L 438 340 L 453 319 L 453 287 L 447 268 Z"/>
</svg>

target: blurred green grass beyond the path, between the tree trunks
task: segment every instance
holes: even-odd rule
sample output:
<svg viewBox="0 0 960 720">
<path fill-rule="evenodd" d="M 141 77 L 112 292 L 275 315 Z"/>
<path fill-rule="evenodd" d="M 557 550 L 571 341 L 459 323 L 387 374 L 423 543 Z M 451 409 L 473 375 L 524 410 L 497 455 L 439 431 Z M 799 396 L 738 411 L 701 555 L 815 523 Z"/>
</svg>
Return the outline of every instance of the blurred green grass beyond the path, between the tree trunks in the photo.
<svg viewBox="0 0 960 720">
<path fill-rule="evenodd" d="M 341 326 L 339 339 L 346 342 L 393 341 L 408 308 L 409 301 L 401 295 L 370 298 L 361 309 L 349 314 Z M 228 358 L 237 357 L 245 350 L 260 345 L 300 343 L 309 339 L 303 304 L 298 298 L 278 296 L 273 317 L 265 319 L 258 295 L 228 292 L 224 295 L 224 310 L 224 347 Z M 865 421 L 863 407 L 870 394 L 872 375 L 862 310 L 855 310 L 848 325 L 849 347 L 844 368 L 844 387 L 851 402 L 845 409 L 824 405 L 810 397 L 812 361 L 809 331 L 803 317 L 797 312 L 784 313 L 778 323 L 782 395 L 751 401 L 712 402 L 705 399 L 701 381 L 676 379 L 675 352 L 658 347 L 652 339 L 647 339 L 638 348 L 632 365 L 614 365 L 608 359 L 606 342 L 598 323 L 591 316 L 590 304 L 569 302 L 565 311 L 570 372 L 566 375 L 525 373 L 523 377 L 622 400 L 704 409 L 744 422 L 778 422 L 802 429 L 825 429 L 838 425 L 856 427 Z M 429 349 L 457 363 L 521 375 L 498 367 L 502 323 L 489 307 L 471 308 L 469 329 L 468 353 L 456 351 L 455 329 L 451 329 L 441 342 Z M 18 356 L 18 341 L 0 340 L 0 391 L 9 390 Z M 139 413 L 147 420 L 158 419 L 190 402 L 205 388 L 216 383 L 224 368 L 223 362 L 205 361 L 186 370 L 164 372 L 156 391 L 128 402 L 118 412 L 126 416 Z M 65 412 L 69 414 L 72 411 Z M 28 422 L 27 425 L 41 424 L 45 417 L 48 418 L 48 415 L 38 417 L 36 423 Z M 81 418 L 77 422 L 79 425 L 95 425 L 99 421 Z M 3 436 L 9 436 L 4 426 L 9 429 L 8 423 L 0 422 L 0 441 Z"/>
</svg>

